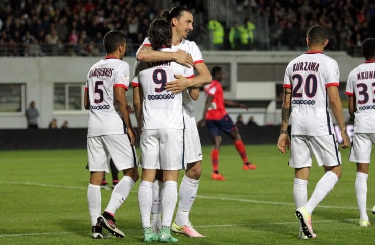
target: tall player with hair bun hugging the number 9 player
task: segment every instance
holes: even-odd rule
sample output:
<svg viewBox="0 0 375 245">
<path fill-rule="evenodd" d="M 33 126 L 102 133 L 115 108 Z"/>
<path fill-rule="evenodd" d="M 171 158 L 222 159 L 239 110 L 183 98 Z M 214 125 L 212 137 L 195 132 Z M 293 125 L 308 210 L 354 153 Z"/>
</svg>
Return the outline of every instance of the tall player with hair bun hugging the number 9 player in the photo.
<svg viewBox="0 0 375 245">
<path fill-rule="evenodd" d="M 190 90 L 196 90 L 196 92 L 198 92 L 197 88 L 199 86 L 211 82 L 211 76 L 204 63 L 199 47 L 195 42 L 185 39 L 187 34 L 193 30 L 193 15 L 189 10 L 183 7 L 175 7 L 169 11 L 164 11 L 161 16 L 166 19 L 167 22 L 171 23 L 172 47 L 177 48 L 178 51 L 163 52 L 152 50 L 150 41 L 146 38 L 137 52 L 137 60 L 144 62 L 173 60 L 187 67 L 193 65 L 194 69 L 199 73 L 198 76 L 194 78 L 185 78 L 176 74 L 175 78 L 177 78 L 177 80 L 167 82 L 165 88 L 173 93 L 181 92 L 188 87 Z M 199 179 L 202 173 L 202 150 L 192 106 L 192 99 L 196 100 L 198 97 L 192 98 L 186 92 L 183 92 L 183 95 L 185 162 L 187 163 L 187 166 L 179 189 L 179 204 L 176 219 L 173 222 L 171 229 L 174 232 L 182 233 L 189 237 L 202 237 L 203 235 L 197 232 L 189 221 L 189 213 L 195 201 Z M 162 184 L 160 183 L 160 185 Z M 159 187 L 156 187 L 155 185 L 155 188 Z M 160 189 L 154 190 L 154 200 L 156 200 L 153 205 L 154 225 L 159 223 L 158 220 L 160 219 L 161 213 L 161 205 L 159 205 L 159 202 L 162 200 L 162 197 L 160 195 L 161 191 L 158 190 Z"/>
</svg>

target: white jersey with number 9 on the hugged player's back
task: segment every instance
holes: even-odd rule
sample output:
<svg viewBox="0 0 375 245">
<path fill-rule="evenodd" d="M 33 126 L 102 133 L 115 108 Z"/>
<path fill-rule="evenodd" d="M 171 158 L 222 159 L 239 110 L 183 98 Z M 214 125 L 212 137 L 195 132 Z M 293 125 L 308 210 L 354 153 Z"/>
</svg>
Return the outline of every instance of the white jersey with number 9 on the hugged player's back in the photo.
<svg viewBox="0 0 375 245">
<path fill-rule="evenodd" d="M 170 48 L 162 51 L 174 52 Z M 136 62 L 132 85 L 143 91 L 142 115 L 144 129 L 183 129 L 182 93 L 172 94 L 164 85 L 175 80 L 174 75 L 194 76 L 193 68 L 173 61 Z"/>
</svg>

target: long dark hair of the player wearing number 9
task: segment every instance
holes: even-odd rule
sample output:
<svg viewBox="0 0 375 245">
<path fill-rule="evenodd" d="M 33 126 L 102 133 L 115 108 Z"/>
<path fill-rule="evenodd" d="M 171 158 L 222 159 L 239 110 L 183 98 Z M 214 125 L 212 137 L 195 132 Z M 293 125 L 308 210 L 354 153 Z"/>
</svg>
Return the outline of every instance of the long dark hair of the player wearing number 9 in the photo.
<svg viewBox="0 0 375 245">
<path fill-rule="evenodd" d="M 170 24 L 162 19 L 154 19 L 149 28 L 149 40 L 153 50 L 160 50 L 165 46 L 170 47 L 172 31 Z"/>
</svg>

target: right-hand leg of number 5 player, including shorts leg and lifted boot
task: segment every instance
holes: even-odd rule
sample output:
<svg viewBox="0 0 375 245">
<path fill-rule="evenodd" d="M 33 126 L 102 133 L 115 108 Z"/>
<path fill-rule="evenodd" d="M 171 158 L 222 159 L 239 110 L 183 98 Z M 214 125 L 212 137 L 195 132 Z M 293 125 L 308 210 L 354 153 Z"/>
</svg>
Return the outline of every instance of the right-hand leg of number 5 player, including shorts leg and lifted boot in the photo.
<svg viewBox="0 0 375 245">
<path fill-rule="evenodd" d="M 114 215 L 128 197 L 135 181 L 139 178 L 136 152 L 134 146 L 130 145 L 126 134 L 104 136 L 103 142 L 113 159 L 115 167 L 122 170 L 124 176 L 113 189 L 108 205 L 98 218 L 98 222 L 109 230 L 111 234 L 125 237 L 125 234 L 116 226 Z"/>
</svg>

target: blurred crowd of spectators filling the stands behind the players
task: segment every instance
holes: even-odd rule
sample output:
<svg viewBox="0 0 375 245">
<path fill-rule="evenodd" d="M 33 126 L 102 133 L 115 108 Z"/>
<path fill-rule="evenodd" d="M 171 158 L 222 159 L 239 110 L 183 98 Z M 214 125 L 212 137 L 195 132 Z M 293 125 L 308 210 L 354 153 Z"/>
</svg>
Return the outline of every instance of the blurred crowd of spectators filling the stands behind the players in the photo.
<svg viewBox="0 0 375 245">
<path fill-rule="evenodd" d="M 102 56 L 103 36 L 113 29 L 126 34 L 126 55 L 134 56 L 151 21 L 170 6 L 192 11 L 189 39 L 202 50 L 304 50 L 307 29 L 321 24 L 327 49 L 353 52 L 375 34 L 368 0 L 2 0 L 0 56 Z"/>
</svg>

